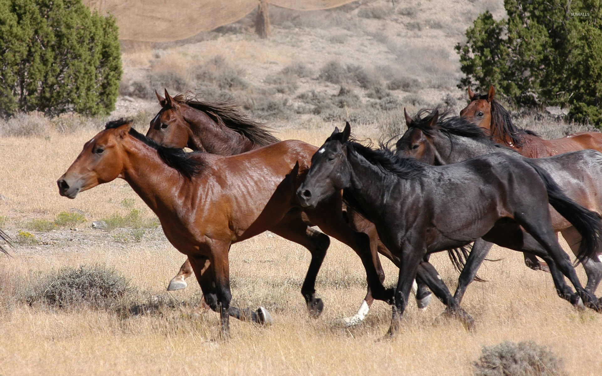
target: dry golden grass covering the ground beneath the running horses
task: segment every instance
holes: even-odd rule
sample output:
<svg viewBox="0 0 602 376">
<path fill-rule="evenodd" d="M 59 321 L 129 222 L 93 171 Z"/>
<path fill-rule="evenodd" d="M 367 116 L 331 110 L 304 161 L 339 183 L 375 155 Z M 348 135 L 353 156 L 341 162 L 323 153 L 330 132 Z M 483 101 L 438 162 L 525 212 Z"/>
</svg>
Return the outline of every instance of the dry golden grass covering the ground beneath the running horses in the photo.
<svg viewBox="0 0 602 376">
<path fill-rule="evenodd" d="M 281 128 L 279 137 L 321 144 L 332 128 L 312 119 Z M 382 135 L 381 129 L 368 125 L 355 129 L 360 138 Z M 152 220 L 122 180 L 73 201 L 58 196 L 55 179 L 95 132 L 3 138 L 0 171 L 7 179 L 0 182 L 0 193 L 8 200 L 0 202 L 0 216 L 8 217 L 4 226 L 10 235 L 32 218 L 51 221 L 73 207 L 92 219 L 114 213 L 126 217 L 137 209 Z M 440 318 L 444 306 L 433 301 L 425 311 L 412 304 L 403 334 L 377 342 L 389 323 L 390 309 L 383 303 L 375 303 L 357 328 L 338 324 L 339 318 L 355 312 L 365 292 L 361 262 L 349 248 L 336 241 L 330 247 L 317 285 L 326 310 L 314 320 L 299 294 L 308 251 L 262 234 L 232 247 L 232 292 L 234 304 L 267 307 L 275 325 L 259 328 L 232 321 L 232 340 L 216 342 L 217 314 L 194 309 L 199 298 L 196 283 L 191 281 L 185 291 L 165 292 L 184 256 L 160 229 L 146 230 L 140 242 L 120 242 L 111 232 L 89 226 L 87 220 L 77 231 L 36 232 L 39 242 L 21 244 L 13 257 L 2 257 L 0 374 L 467 375 L 483 345 L 503 341 L 546 345 L 562 357 L 571 375 L 602 371 L 602 316 L 579 312 L 560 300 L 549 274 L 528 270 L 516 252 L 495 248 L 491 256 L 503 260 L 487 263 L 480 271 L 491 282 L 474 283 L 468 290 L 463 305 L 476 319 L 474 332 Z M 123 274 L 135 291 L 143 292 L 132 293 L 128 307 L 157 308 L 124 315 L 115 309 L 24 303 L 27 291 L 61 268 L 99 264 Z M 446 257 L 435 255 L 433 264 L 445 282 L 455 286 L 457 275 Z M 396 268 L 385 262 L 385 272 L 385 283 L 393 284 Z"/>
</svg>

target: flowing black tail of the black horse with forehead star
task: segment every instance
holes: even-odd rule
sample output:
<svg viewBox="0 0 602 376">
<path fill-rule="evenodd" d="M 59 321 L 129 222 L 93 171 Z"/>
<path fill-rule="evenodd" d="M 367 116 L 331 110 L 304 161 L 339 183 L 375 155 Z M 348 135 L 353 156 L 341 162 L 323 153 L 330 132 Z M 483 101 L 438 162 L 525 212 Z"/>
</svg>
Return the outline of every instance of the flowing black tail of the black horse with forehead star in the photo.
<svg viewBox="0 0 602 376">
<path fill-rule="evenodd" d="M 566 197 L 550 174 L 543 168 L 536 165 L 532 159 L 524 159 L 544 180 L 545 188 L 548 191 L 548 202 L 557 212 L 565 217 L 581 234 L 581 244 L 579 245 L 579 254 L 577 254 L 577 264 L 583 262 L 586 257 L 594 258 L 600 251 L 600 239 L 602 238 L 602 221 L 600 215 L 592 212 L 573 200 Z"/>
</svg>

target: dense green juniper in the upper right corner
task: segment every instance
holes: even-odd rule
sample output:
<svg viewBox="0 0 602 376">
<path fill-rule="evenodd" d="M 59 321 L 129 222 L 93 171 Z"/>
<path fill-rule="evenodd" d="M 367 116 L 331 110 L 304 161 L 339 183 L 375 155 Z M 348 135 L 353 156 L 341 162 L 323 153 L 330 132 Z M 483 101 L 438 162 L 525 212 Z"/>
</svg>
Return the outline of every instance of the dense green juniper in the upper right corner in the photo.
<svg viewBox="0 0 602 376">
<path fill-rule="evenodd" d="M 602 126 L 602 7 L 594 0 L 506 0 L 507 18 L 489 11 L 458 44 L 459 87 L 520 105 L 569 105 L 569 117 Z M 583 16 L 583 14 L 586 14 Z"/>
</svg>

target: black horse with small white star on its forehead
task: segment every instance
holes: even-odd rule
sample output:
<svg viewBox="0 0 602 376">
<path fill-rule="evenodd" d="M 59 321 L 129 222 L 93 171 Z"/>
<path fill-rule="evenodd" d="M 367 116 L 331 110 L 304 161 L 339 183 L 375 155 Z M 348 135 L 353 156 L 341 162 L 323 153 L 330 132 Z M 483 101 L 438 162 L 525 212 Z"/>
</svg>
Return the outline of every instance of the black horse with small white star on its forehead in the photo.
<svg viewBox="0 0 602 376">
<path fill-rule="evenodd" d="M 348 205 L 376 225 L 382 242 L 399 257 L 389 334 L 399 328 L 420 260 L 478 238 L 532 251 L 548 262 L 560 297 L 573 304 L 581 298 L 586 306 L 601 310 L 602 303 L 583 288 L 558 244 L 548 202 L 583 236 L 579 260 L 597 254 L 602 223 L 597 214 L 562 194 L 547 172 L 503 153 L 433 167 L 399 157 L 383 145 L 370 149 L 349 140 L 350 132 L 347 123 L 343 132 L 335 129 L 327 138 L 312 157 L 297 196 L 301 205 L 312 208 L 344 189 Z M 520 226 L 532 237 L 524 237 Z"/>
</svg>

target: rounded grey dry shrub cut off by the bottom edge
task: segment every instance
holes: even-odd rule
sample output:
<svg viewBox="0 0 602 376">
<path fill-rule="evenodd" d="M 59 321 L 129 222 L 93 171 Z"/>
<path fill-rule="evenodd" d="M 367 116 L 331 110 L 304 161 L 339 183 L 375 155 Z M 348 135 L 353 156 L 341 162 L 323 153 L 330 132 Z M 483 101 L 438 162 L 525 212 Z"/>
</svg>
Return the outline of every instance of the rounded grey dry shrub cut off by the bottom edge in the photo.
<svg viewBox="0 0 602 376">
<path fill-rule="evenodd" d="M 475 376 L 560 376 L 566 375 L 562 360 L 547 347 L 533 341 L 502 342 L 485 346 L 477 362 Z"/>
</svg>

